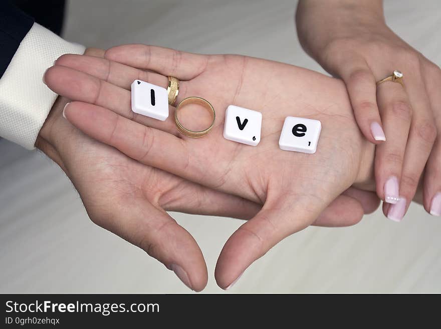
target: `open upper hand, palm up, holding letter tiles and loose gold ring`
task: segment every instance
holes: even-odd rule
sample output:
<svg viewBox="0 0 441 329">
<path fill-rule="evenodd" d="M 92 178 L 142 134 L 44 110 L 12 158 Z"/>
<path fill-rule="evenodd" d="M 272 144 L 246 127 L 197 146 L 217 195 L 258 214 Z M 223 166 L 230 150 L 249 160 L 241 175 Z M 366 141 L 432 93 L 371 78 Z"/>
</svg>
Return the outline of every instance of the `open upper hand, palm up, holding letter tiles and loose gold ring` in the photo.
<svg viewBox="0 0 441 329">
<path fill-rule="evenodd" d="M 228 287 L 278 241 L 312 224 L 352 184 L 374 187 L 374 146 L 362 138 L 337 79 L 244 56 L 203 56 L 144 45 L 116 47 L 105 57 L 110 61 L 63 56 L 46 72 L 48 86 L 74 100 L 64 110 L 74 126 L 143 164 L 263 204 L 219 255 L 215 276 L 220 287 Z M 168 75 L 180 80 L 177 102 L 200 96 L 216 109 L 207 136 L 179 135 L 173 107 L 166 121 L 131 111 L 129 88 L 135 79 L 165 87 Z M 262 112 L 257 147 L 223 138 L 225 109 L 231 104 Z M 191 115 L 190 120 L 198 119 Z M 280 150 L 286 116 L 321 121 L 315 154 Z"/>
</svg>

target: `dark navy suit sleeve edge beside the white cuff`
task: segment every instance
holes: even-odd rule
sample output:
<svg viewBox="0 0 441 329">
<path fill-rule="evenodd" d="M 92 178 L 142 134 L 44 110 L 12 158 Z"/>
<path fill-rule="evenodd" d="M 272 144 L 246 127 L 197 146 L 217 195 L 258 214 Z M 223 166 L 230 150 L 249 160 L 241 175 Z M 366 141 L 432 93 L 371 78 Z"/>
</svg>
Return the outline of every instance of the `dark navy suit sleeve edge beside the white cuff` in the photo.
<svg viewBox="0 0 441 329">
<path fill-rule="evenodd" d="M 0 0 L 0 78 L 33 24 L 32 17 L 8 0 Z"/>
</svg>

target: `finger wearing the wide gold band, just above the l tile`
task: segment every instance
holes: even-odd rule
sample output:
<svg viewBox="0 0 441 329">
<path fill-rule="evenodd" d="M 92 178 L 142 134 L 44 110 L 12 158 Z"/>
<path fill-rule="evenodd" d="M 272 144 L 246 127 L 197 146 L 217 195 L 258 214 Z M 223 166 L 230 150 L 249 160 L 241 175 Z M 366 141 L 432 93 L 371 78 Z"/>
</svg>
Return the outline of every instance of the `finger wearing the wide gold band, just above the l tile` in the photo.
<svg viewBox="0 0 441 329">
<path fill-rule="evenodd" d="M 153 85 L 167 88 L 167 77 L 131 66 L 109 61 L 104 58 L 66 54 L 58 58 L 54 65 L 62 65 L 87 73 L 112 85 L 130 90 L 135 80 L 149 82 Z"/>
</svg>

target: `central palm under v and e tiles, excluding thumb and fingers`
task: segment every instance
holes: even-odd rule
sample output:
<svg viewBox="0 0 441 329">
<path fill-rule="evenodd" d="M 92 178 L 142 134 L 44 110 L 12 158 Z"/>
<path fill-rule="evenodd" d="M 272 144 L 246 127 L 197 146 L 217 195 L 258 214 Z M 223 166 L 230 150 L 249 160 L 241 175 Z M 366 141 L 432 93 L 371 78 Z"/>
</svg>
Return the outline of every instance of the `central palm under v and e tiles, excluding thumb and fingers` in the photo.
<svg viewBox="0 0 441 329">
<path fill-rule="evenodd" d="M 206 97 L 217 109 L 211 133 L 199 140 L 184 137 L 185 167 L 195 173 L 191 179 L 199 177 L 198 182 L 230 193 L 237 193 L 241 186 L 240 195 L 250 200 L 282 204 L 289 203 L 286 197 L 297 196 L 327 204 L 354 183 L 364 141 L 352 124 L 351 108 L 339 81 L 307 70 L 294 72 L 292 66 L 281 63 L 219 56 L 185 86 L 185 96 Z M 262 112 L 262 138 L 257 147 L 222 138 L 225 109 L 232 104 Z M 279 149 L 287 116 L 322 122 L 316 154 Z"/>
</svg>

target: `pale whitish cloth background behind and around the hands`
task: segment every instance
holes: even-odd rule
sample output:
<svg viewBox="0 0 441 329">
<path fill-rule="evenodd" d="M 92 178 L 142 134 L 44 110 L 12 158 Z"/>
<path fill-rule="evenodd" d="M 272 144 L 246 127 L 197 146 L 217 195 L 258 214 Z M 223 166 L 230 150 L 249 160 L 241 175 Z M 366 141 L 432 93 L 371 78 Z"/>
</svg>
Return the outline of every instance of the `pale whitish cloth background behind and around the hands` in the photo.
<svg viewBox="0 0 441 329">
<path fill-rule="evenodd" d="M 291 0 L 76 0 L 69 4 L 65 37 L 103 48 L 140 42 L 240 53 L 321 71 L 298 44 L 295 6 Z M 386 0 L 385 9 L 392 29 L 440 65 L 439 0 Z M 241 221 L 172 215 L 206 258 L 203 292 L 223 292 L 213 278 L 215 261 Z M 255 262 L 229 293 L 441 292 L 440 234 L 441 218 L 414 204 L 401 223 L 378 210 L 353 227 L 310 227 Z M 0 292 L 190 291 L 162 264 L 94 225 L 55 164 L 5 140 L 0 250 Z"/>
</svg>

